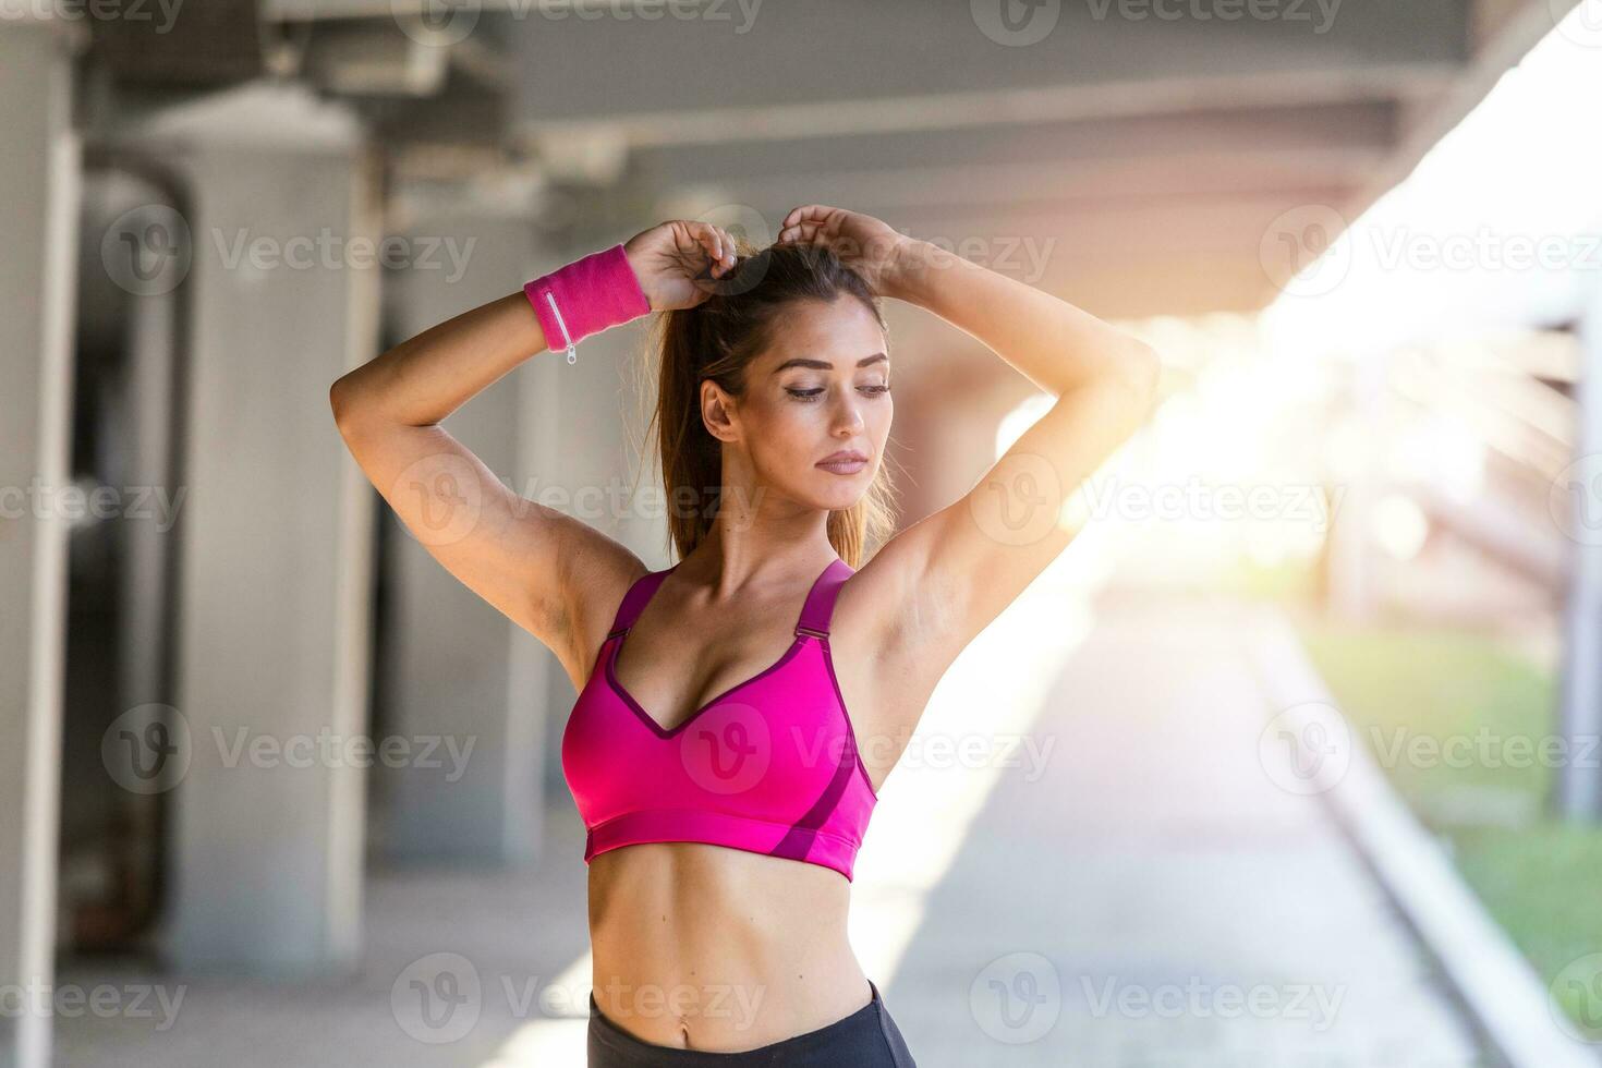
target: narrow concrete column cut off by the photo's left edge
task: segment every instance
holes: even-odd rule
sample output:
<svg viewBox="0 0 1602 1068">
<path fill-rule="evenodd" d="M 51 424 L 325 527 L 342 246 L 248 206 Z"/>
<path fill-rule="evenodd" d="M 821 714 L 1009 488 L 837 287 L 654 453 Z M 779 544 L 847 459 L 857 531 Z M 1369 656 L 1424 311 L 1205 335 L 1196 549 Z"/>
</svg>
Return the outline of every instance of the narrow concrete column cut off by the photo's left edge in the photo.
<svg viewBox="0 0 1602 1068">
<path fill-rule="evenodd" d="M 43 1068 L 54 982 L 80 144 L 66 38 L 0 22 L 0 1063 Z M 10 999 L 8 999 L 10 1001 Z"/>
</svg>

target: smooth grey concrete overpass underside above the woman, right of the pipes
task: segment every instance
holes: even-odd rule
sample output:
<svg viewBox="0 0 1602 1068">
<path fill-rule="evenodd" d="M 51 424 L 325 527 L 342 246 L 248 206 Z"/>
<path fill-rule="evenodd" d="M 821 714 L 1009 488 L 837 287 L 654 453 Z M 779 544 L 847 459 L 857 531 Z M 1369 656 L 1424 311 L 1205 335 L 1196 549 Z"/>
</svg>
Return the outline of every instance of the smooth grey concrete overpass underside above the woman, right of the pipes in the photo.
<svg viewBox="0 0 1602 1068">
<path fill-rule="evenodd" d="M 1488 40 L 1461 0 L 1033 6 L 1027 45 L 982 0 L 508 16 L 509 135 L 557 167 L 622 146 L 666 203 L 863 210 L 1102 315 L 1256 309 L 1274 221 L 1354 218 Z"/>
</svg>

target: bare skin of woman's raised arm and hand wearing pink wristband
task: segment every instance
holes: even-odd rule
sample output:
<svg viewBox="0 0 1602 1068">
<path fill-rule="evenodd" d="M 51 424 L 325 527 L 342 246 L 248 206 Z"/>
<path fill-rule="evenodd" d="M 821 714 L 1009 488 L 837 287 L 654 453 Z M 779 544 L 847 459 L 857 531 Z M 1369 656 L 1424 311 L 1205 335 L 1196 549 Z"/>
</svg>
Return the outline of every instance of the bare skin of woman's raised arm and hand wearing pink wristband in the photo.
<svg viewBox="0 0 1602 1068">
<path fill-rule="evenodd" d="M 697 275 L 734 263 L 703 223 L 663 223 L 625 243 L 652 311 L 705 299 Z M 638 298 L 636 298 L 638 299 Z M 508 488 L 441 421 L 524 360 L 549 351 L 519 290 L 402 341 L 328 389 L 340 436 L 412 535 L 583 685 L 610 612 L 646 565 L 588 524 Z M 561 351 L 561 339 L 554 346 Z"/>
</svg>

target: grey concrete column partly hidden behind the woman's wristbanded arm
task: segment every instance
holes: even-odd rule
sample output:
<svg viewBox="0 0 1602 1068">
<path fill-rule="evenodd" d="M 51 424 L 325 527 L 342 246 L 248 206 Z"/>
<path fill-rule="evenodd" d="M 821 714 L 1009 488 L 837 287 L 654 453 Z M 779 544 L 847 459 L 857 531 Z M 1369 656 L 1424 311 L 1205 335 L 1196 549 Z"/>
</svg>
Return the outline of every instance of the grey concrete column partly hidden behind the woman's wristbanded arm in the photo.
<svg viewBox="0 0 1602 1068">
<path fill-rule="evenodd" d="M 407 248 L 437 250 L 394 271 L 388 335 L 415 336 L 517 291 L 533 259 L 533 226 L 484 208 L 409 227 Z M 501 482 L 524 492 L 519 379 L 473 397 L 445 421 Z M 383 852 L 418 863 L 527 863 L 538 853 L 545 679 L 554 658 L 463 586 L 383 506 L 384 648 L 378 719 L 388 738 L 433 745 L 426 762 L 381 767 Z M 418 749 L 421 751 L 421 749 Z"/>
</svg>

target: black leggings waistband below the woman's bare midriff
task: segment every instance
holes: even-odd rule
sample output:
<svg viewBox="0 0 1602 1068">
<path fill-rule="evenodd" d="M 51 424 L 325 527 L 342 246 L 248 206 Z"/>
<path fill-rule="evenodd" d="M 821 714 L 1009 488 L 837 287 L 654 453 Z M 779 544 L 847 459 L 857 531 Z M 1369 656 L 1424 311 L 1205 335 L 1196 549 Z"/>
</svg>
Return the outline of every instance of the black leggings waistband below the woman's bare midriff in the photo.
<svg viewBox="0 0 1602 1068">
<path fill-rule="evenodd" d="M 879 988 L 868 980 L 873 1001 L 849 1017 L 806 1034 L 759 1049 L 714 1054 L 642 1042 L 609 1020 L 590 994 L 590 1068 L 916 1068 Z"/>
</svg>

